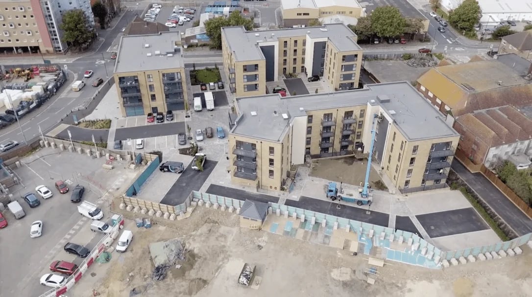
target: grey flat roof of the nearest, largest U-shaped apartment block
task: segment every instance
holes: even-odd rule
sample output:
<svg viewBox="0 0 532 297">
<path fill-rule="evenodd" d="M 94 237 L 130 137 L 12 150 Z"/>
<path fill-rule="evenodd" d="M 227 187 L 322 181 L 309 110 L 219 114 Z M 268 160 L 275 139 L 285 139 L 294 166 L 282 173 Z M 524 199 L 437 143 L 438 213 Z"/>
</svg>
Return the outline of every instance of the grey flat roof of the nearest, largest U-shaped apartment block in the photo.
<svg viewBox="0 0 532 297">
<path fill-rule="evenodd" d="M 380 102 L 377 96 L 389 98 Z M 371 100 L 375 100 L 373 103 Z M 364 89 L 281 97 L 279 94 L 237 98 L 240 116 L 231 133 L 281 141 L 290 121 L 316 111 L 357 105 L 380 105 L 410 141 L 459 135 L 409 82 L 370 84 Z M 390 112 L 393 111 L 393 112 Z M 256 115 L 252 115 L 252 112 Z M 288 115 L 288 120 L 282 114 Z"/>
</svg>

